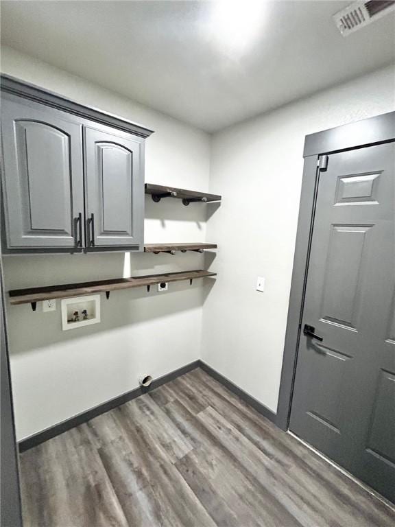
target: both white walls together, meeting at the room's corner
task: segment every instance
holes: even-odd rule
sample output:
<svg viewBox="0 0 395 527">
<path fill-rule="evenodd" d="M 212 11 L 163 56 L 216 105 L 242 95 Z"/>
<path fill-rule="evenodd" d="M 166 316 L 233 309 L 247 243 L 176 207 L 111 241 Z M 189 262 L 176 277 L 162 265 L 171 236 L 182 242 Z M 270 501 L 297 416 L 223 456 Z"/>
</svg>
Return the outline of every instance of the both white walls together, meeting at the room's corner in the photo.
<svg viewBox="0 0 395 527">
<path fill-rule="evenodd" d="M 3 48 L 9 75 L 137 121 L 147 140 L 146 180 L 222 194 L 218 210 L 146 200 L 146 242 L 217 242 L 206 283 L 102 299 L 102 323 L 62 332 L 60 311 L 9 306 L 18 438 L 24 438 L 201 357 L 276 411 L 306 134 L 395 108 L 394 68 L 250 119 L 211 138 L 43 62 Z M 210 150 L 211 148 L 211 150 Z M 210 167 L 211 160 L 211 167 Z M 210 173 L 211 170 L 211 173 Z M 199 255 L 5 257 L 6 288 L 200 268 Z M 264 293 L 254 290 L 266 279 Z M 202 308 L 204 303 L 204 307 Z M 203 334 L 201 329 L 203 324 Z M 202 338 L 201 338 L 202 336 Z"/>
</svg>

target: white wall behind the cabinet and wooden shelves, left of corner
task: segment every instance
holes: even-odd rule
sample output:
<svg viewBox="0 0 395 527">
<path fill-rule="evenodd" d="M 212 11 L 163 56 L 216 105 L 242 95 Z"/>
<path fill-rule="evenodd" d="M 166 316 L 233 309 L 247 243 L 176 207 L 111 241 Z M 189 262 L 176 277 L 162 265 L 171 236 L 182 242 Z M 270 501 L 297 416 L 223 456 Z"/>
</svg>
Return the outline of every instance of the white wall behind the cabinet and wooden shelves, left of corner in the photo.
<svg viewBox="0 0 395 527">
<path fill-rule="evenodd" d="M 1 71 L 155 130 L 146 143 L 145 180 L 208 189 L 210 138 L 176 119 L 43 62 L 3 47 Z M 146 199 L 146 242 L 200 242 L 205 211 L 180 201 Z M 201 268 L 202 256 L 170 255 L 5 257 L 7 289 Z M 153 288 L 152 288 L 153 289 Z M 141 373 L 164 375 L 200 357 L 204 288 L 195 281 L 169 292 L 113 292 L 101 299 L 99 325 L 63 332 L 60 305 L 8 306 L 16 431 L 25 438 L 138 385 Z"/>
</svg>

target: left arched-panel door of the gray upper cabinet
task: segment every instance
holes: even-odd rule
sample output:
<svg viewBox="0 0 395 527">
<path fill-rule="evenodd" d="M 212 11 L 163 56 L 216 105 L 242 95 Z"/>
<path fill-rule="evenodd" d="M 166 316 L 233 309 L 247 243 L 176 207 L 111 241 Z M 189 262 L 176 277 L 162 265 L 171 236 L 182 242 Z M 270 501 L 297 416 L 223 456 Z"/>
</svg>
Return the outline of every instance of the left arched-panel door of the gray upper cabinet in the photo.
<svg viewBox="0 0 395 527">
<path fill-rule="evenodd" d="M 82 246 L 82 126 L 58 110 L 4 96 L 1 128 L 8 248 Z"/>
</svg>

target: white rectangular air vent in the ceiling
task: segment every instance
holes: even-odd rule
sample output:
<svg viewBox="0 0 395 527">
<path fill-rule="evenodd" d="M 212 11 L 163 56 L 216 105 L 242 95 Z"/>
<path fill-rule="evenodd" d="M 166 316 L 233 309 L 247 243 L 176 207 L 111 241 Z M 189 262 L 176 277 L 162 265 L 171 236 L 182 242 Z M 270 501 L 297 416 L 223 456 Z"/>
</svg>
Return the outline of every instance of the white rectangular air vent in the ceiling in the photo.
<svg viewBox="0 0 395 527">
<path fill-rule="evenodd" d="M 395 0 L 358 1 L 334 14 L 333 20 L 339 32 L 347 36 L 394 10 Z"/>
</svg>

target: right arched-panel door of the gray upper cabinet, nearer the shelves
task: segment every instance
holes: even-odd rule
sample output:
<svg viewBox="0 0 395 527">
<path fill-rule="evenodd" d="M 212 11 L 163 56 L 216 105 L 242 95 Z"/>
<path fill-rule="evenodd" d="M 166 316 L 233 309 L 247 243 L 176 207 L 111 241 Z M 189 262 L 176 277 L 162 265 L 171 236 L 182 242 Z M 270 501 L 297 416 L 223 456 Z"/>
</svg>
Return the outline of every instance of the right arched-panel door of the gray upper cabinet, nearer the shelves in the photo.
<svg viewBox="0 0 395 527">
<path fill-rule="evenodd" d="M 85 128 L 87 246 L 143 245 L 143 142 L 108 127 Z"/>
</svg>

